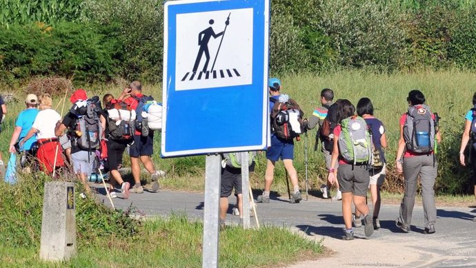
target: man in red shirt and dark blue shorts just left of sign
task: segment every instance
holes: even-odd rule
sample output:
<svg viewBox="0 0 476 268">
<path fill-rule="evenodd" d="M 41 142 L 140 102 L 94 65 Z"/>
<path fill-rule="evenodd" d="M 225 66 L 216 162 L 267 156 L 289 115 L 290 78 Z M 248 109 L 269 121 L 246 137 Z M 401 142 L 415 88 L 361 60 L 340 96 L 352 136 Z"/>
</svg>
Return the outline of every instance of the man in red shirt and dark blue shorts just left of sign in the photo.
<svg viewBox="0 0 476 268">
<path fill-rule="evenodd" d="M 147 122 L 147 112 L 144 106 L 152 102 L 152 96 L 142 94 L 142 85 L 139 81 L 133 81 L 129 87 L 124 89 L 118 101 L 126 103 L 131 110 L 135 110 L 136 121 L 135 130 L 132 137 L 133 143 L 129 148 L 130 165 L 135 185 L 130 188 L 134 194 L 142 194 L 143 188 L 149 192 L 159 191 L 159 176 L 165 176 L 165 172 L 156 170 L 152 161 L 154 153 L 154 130 L 150 129 Z M 150 174 L 152 183 L 150 185 L 141 185 L 141 163 Z"/>
</svg>

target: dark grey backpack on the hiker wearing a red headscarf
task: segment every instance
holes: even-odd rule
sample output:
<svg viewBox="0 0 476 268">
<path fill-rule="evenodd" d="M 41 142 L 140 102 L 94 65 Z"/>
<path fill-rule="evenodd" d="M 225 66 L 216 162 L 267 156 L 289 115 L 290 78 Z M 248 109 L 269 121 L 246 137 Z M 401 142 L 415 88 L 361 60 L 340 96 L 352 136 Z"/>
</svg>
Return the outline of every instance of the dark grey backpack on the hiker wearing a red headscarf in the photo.
<svg viewBox="0 0 476 268">
<path fill-rule="evenodd" d="M 73 107 L 74 106 L 78 106 L 77 103 L 75 103 Z M 96 150 L 96 148 L 100 145 L 99 143 L 103 134 L 101 121 L 99 120 L 98 116 L 99 107 L 97 106 L 97 103 L 95 103 L 94 99 L 89 99 L 86 101 L 85 106 L 82 104 L 79 106 L 81 106 L 80 109 L 82 109 L 82 107 L 86 107 L 83 109 L 86 112 L 83 115 L 77 114 L 74 131 L 76 134 L 76 145 L 81 150 Z"/>
</svg>

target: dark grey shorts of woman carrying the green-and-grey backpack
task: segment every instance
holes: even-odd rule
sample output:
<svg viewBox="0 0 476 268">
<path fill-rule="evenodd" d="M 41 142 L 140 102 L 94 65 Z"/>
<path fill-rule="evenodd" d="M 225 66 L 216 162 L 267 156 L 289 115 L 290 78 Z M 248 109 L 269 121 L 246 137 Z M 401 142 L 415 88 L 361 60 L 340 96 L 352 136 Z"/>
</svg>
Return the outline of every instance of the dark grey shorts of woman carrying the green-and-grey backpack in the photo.
<svg viewBox="0 0 476 268">
<path fill-rule="evenodd" d="M 367 165 L 341 164 L 337 169 L 339 188 L 343 193 L 353 193 L 355 196 L 367 196 L 370 175 Z"/>
</svg>

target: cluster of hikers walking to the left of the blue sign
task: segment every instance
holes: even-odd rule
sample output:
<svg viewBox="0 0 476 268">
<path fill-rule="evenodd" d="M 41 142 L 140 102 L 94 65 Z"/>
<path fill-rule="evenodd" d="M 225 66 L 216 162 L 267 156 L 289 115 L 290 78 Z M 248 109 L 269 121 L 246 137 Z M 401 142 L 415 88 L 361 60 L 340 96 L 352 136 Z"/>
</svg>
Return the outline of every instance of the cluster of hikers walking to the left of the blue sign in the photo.
<svg viewBox="0 0 476 268">
<path fill-rule="evenodd" d="M 123 198 L 130 193 L 141 194 L 144 189 L 158 192 L 159 177 L 165 173 L 155 169 L 151 156 L 154 132 L 161 126 L 147 111 L 157 106 L 155 110 L 161 113 L 161 106 L 142 94 L 141 83 L 133 81 L 118 98 L 104 95 L 102 104 L 99 96 L 88 98 L 85 90 L 75 90 L 70 103 L 70 110 L 61 118 L 52 108 L 50 94 L 26 96 L 26 109 L 15 120 L 9 145 L 10 153 L 20 155 L 23 172 L 40 170 L 57 177 L 69 170 L 66 167 L 72 167 L 86 192 L 90 192 L 91 174 L 110 172 L 108 195 L 112 198 L 117 197 L 116 188 Z M 7 109 L 1 98 L 0 104 L 4 117 Z M 119 172 L 126 149 L 135 182 L 132 187 Z M 150 174 L 148 185 L 141 185 L 140 163 Z M 8 170 L 2 175 L 8 176 Z"/>
</svg>

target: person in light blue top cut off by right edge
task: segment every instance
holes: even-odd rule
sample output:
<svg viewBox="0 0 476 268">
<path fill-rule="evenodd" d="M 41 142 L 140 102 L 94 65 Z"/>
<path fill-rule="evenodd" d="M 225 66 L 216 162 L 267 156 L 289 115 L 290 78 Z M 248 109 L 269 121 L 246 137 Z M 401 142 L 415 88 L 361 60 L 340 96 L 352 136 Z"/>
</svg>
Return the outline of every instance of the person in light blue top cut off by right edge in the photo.
<svg viewBox="0 0 476 268">
<path fill-rule="evenodd" d="M 459 147 L 459 163 L 462 166 L 466 166 L 464 151 L 469 143 L 469 155 L 467 160 L 473 169 L 474 193 L 476 198 L 476 92 L 473 95 L 473 108 L 466 112 L 464 118 L 464 132 L 461 139 L 461 146 Z M 473 220 L 476 221 L 476 218 L 473 218 Z"/>
</svg>

